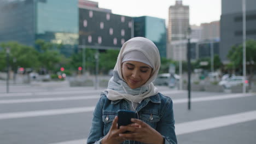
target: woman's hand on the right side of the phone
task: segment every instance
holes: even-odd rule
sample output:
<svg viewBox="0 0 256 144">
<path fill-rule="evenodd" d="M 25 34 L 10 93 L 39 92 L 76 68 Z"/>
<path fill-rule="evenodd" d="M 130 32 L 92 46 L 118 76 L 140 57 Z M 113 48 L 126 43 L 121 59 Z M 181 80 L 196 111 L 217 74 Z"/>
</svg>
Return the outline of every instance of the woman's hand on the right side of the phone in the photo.
<svg viewBox="0 0 256 144">
<path fill-rule="evenodd" d="M 150 127 L 150 125 L 135 118 L 132 118 L 131 121 L 133 122 L 132 125 L 120 127 L 120 130 L 122 131 L 130 131 L 130 133 L 127 134 L 119 134 L 121 138 L 143 143 L 164 143 L 164 138 L 162 135 Z"/>
</svg>

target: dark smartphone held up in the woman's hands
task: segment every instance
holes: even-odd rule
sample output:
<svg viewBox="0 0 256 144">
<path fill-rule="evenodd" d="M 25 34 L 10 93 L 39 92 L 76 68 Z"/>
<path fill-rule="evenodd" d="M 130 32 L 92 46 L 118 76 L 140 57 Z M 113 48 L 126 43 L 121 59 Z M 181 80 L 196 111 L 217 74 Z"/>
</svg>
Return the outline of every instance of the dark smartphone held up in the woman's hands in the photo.
<svg viewBox="0 0 256 144">
<path fill-rule="evenodd" d="M 121 125 L 131 124 L 131 118 L 136 118 L 136 113 L 129 110 L 119 110 L 118 111 L 118 128 Z"/>
</svg>

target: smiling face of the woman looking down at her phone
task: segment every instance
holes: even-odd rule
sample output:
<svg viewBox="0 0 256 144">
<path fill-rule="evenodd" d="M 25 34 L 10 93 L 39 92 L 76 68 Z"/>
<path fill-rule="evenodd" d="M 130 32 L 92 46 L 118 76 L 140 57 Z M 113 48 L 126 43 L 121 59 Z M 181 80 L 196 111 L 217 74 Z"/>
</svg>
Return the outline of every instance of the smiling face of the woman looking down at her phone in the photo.
<svg viewBox="0 0 256 144">
<path fill-rule="evenodd" d="M 122 73 L 127 85 L 134 89 L 148 81 L 152 68 L 142 62 L 126 61 L 122 64 Z"/>
</svg>

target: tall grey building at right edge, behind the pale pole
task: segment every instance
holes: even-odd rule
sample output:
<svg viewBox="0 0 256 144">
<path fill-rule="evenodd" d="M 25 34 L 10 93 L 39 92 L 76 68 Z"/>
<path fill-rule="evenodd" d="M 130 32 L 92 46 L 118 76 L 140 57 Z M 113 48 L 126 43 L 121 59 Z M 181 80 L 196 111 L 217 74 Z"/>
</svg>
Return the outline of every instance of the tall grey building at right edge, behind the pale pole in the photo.
<svg viewBox="0 0 256 144">
<path fill-rule="evenodd" d="M 246 1 L 246 39 L 256 40 L 256 1 Z M 227 55 L 234 45 L 242 44 L 242 1 L 222 0 L 220 17 L 220 58 L 228 61 Z"/>
</svg>

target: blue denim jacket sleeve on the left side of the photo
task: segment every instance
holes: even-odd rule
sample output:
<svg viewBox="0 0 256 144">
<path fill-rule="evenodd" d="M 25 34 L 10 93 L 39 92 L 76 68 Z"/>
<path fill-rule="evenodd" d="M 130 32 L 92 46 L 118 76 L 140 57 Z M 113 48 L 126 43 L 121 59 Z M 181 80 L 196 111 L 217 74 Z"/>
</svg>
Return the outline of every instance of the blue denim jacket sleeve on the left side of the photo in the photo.
<svg viewBox="0 0 256 144">
<path fill-rule="evenodd" d="M 104 123 L 102 121 L 102 105 L 103 105 L 103 97 L 98 100 L 98 103 L 95 106 L 94 117 L 92 118 L 92 124 L 90 133 L 87 139 L 87 143 L 100 143 L 103 137 L 103 128 Z"/>
</svg>

